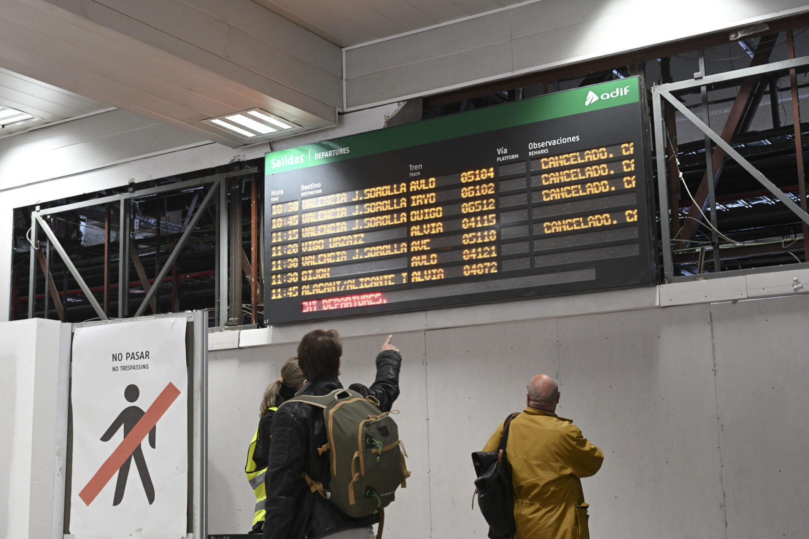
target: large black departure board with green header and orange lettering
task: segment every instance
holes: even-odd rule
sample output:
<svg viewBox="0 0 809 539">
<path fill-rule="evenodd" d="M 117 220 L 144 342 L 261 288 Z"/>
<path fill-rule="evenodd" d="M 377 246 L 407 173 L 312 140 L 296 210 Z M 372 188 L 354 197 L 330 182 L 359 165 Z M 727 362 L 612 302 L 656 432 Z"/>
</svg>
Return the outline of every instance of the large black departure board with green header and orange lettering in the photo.
<svg viewBox="0 0 809 539">
<path fill-rule="evenodd" d="M 266 155 L 265 322 L 653 284 L 626 78 Z"/>
</svg>

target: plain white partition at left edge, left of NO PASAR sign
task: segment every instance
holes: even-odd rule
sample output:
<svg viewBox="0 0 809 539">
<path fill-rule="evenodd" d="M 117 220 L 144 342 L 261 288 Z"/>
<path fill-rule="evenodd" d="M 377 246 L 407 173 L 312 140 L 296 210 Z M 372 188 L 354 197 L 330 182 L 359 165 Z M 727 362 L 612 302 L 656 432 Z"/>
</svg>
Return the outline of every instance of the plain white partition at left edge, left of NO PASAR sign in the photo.
<svg viewBox="0 0 809 539">
<path fill-rule="evenodd" d="M 62 337 L 53 320 L 0 324 L 0 537 L 61 537 L 70 350 Z"/>
</svg>

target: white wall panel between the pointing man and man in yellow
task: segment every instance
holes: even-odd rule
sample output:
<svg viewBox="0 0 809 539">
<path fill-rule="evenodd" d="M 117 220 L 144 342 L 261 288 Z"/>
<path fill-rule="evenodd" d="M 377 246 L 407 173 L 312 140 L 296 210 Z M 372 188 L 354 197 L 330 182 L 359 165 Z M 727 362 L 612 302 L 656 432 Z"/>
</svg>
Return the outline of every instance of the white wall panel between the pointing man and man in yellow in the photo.
<svg viewBox="0 0 809 539">
<path fill-rule="evenodd" d="M 432 537 L 485 537 L 472 511 L 473 451 L 514 411 L 539 373 L 559 372 L 556 320 L 426 332 Z"/>
</svg>

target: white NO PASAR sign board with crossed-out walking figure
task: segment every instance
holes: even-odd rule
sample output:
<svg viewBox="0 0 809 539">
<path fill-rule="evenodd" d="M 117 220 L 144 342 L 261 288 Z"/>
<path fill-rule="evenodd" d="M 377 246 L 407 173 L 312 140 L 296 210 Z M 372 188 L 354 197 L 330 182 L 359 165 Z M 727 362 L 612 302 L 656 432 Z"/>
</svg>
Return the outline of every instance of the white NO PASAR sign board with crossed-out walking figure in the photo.
<svg viewBox="0 0 809 539">
<path fill-rule="evenodd" d="M 76 539 L 185 537 L 185 318 L 79 327 L 70 402 Z"/>
</svg>

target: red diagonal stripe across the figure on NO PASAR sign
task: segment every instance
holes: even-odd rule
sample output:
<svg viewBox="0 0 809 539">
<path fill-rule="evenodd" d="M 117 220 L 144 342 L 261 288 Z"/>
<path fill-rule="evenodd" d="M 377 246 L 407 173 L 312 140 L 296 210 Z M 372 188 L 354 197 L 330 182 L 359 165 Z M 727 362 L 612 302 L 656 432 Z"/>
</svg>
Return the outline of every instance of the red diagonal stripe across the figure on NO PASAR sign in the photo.
<svg viewBox="0 0 809 539">
<path fill-rule="evenodd" d="M 112 455 L 110 455 L 99 470 L 95 472 L 93 478 L 91 478 L 82 491 L 78 493 L 78 497 L 81 498 L 84 503 L 87 505 L 92 503 L 95 496 L 99 495 L 101 489 L 107 485 L 109 480 L 112 479 L 112 476 L 121 468 L 126 459 L 132 455 L 135 448 L 141 444 L 143 439 L 146 438 L 146 435 L 149 434 L 149 431 L 155 427 L 159 419 L 163 417 L 163 414 L 168 410 L 168 407 L 172 406 L 172 402 L 179 396 L 180 390 L 178 390 L 172 382 L 168 382 L 166 389 L 158 395 L 155 402 L 152 402 L 152 405 L 149 406 L 149 410 L 146 411 L 146 414 L 143 415 L 141 420 L 138 421 L 135 427 L 129 432 L 129 435 L 124 438 L 121 444 L 112 452 Z"/>
</svg>

